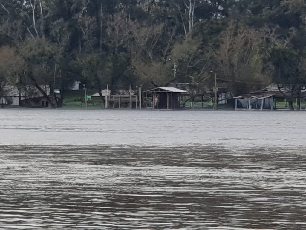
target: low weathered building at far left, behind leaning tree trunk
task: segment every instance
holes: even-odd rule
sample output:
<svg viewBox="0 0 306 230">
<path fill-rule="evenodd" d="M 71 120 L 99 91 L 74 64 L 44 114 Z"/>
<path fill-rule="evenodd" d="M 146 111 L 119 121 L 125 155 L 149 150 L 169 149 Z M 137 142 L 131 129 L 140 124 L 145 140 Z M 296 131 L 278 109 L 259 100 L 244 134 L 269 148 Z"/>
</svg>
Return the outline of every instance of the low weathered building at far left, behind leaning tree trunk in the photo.
<svg viewBox="0 0 306 230">
<path fill-rule="evenodd" d="M 49 86 L 41 86 L 41 88 L 50 95 Z M 16 86 L 4 86 L 2 88 L 0 104 L 14 106 L 29 107 L 48 107 L 49 103 L 43 94 L 34 86 L 24 86 L 21 90 Z"/>
</svg>

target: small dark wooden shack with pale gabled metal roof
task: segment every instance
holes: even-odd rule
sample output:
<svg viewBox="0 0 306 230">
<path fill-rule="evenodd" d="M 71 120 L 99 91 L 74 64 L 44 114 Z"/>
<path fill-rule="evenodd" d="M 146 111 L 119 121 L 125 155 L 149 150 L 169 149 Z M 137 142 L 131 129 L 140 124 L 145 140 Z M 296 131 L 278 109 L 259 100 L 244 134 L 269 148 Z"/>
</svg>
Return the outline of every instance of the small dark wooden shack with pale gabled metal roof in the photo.
<svg viewBox="0 0 306 230">
<path fill-rule="evenodd" d="M 157 87 L 144 93 L 147 107 L 152 109 L 181 109 L 180 97 L 188 94 L 174 87 Z"/>
</svg>

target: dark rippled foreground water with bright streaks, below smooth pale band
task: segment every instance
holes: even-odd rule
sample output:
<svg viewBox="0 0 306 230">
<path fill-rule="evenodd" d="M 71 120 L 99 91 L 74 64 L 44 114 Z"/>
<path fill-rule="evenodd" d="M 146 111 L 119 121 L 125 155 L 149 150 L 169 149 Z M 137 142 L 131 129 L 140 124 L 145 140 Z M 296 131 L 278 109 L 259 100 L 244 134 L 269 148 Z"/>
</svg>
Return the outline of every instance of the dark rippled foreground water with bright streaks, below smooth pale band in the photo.
<svg viewBox="0 0 306 230">
<path fill-rule="evenodd" d="M 3 229 L 306 229 L 306 148 L 0 147 Z"/>
</svg>

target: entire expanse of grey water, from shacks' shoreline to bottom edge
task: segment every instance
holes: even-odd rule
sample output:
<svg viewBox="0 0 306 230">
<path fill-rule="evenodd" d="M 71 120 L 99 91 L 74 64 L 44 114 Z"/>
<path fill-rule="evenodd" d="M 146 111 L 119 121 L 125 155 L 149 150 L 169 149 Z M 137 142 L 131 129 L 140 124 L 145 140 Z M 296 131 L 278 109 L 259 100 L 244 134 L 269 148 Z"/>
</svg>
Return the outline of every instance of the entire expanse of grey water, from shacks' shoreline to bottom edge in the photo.
<svg viewBox="0 0 306 230">
<path fill-rule="evenodd" d="M 0 109 L 0 229 L 306 229 L 305 115 Z"/>
</svg>

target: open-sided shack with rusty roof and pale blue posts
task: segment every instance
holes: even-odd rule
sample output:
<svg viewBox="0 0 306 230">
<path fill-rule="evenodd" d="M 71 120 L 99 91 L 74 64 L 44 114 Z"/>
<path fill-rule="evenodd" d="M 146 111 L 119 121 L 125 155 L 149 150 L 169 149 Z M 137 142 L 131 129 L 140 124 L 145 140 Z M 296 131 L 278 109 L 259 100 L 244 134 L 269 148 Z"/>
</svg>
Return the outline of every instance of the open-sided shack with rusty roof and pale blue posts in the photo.
<svg viewBox="0 0 306 230">
<path fill-rule="evenodd" d="M 249 92 L 234 97 L 235 109 L 286 109 L 288 108 L 285 96 L 287 93 L 289 93 L 289 89 L 285 89 L 280 92 L 278 90 L 278 86 L 272 84 L 262 90 Z M 301 92 L 301 96 L 302 98 L 306 97 L 306 90 Z M 282 105 L 277 107 L 278 102 L 282 102 Z"/>
</svg>

